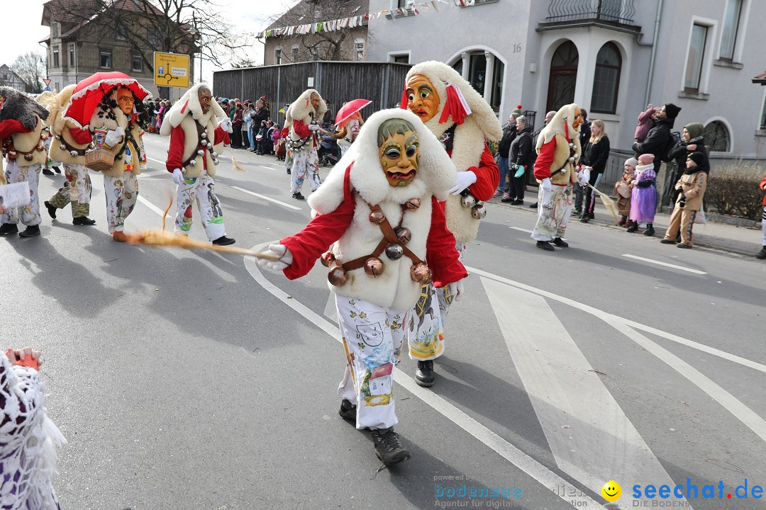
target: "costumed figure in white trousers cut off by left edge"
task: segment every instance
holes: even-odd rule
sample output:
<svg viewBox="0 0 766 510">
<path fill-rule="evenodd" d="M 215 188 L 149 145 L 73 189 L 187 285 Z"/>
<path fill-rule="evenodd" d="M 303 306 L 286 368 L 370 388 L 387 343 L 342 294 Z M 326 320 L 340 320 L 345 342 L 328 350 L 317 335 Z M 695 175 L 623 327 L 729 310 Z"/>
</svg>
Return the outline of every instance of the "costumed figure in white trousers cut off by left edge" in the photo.
<svg viewBox="0 0 766 510">
<path fill-rule="evenodd" d="M 40 235 L 40 197 L 38 181 L 47 162 L 45 139 L 48 136 L 48 111 L 25 93 L 9 86 L 0 86 L 0 151 L 5 158 L 5 180 L 9 183 L 27 181 L 29 203 L 11 207 L 0 214 L 0 236 L 18 232 L 18 222 L 27 228 L 20 237 Z"/>
</svg>

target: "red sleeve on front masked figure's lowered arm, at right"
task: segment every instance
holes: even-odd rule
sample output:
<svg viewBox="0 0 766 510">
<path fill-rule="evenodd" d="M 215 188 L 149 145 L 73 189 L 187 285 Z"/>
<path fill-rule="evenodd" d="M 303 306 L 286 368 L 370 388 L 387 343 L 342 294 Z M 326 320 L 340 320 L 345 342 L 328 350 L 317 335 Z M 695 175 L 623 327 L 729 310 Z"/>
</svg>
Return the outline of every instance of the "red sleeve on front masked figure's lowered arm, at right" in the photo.
<svg viewBox="0 0 766 510">
<path fill-rule="evenodd" d="M 457 259 L 455 236 L 447 230 L 444 209 L 431 197 L 431 228 L 426 242 L 426 263 L 434 274 L 434 287 L 444 287 L 468 276 L 466 268 Z"/>
</svg>

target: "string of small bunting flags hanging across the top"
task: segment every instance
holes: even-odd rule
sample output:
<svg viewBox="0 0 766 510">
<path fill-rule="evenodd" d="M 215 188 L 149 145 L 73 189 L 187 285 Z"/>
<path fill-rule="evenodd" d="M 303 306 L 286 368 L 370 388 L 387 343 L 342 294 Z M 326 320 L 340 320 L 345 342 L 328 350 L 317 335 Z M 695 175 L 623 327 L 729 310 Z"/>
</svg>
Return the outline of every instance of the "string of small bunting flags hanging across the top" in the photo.
<svg viewBox="0 0 766 510">
<path fill-rule="evenodd" d="M 428 2 L 412 2 L 406 8 L 395 9 L 383 9 L 378 12 L 369 12 L 363 15 L 351 16 L 349 18 L 339 18 L 328 21 L 319 21 L 316 23 L 296 24 L 290 27 L 268 28 L 256 34 L 257 38 L 261 37 L 281 37 L 295 34 L 317 34 L 319 32 L 334 32 L 343 30 L 345 28 L 357 28 L 368 24 L 370 21 L 378 21 L 382 17 L 390 16 L 392 20 L 402 16 L 417 16 L 423 12 L 429 11 L 431 8 L 434 11 L 441 11 L 444 5 L 453 5 L 455 7 L 466 8 L 473 7 L 476 0 L 428 0 Z"/>
</svg>

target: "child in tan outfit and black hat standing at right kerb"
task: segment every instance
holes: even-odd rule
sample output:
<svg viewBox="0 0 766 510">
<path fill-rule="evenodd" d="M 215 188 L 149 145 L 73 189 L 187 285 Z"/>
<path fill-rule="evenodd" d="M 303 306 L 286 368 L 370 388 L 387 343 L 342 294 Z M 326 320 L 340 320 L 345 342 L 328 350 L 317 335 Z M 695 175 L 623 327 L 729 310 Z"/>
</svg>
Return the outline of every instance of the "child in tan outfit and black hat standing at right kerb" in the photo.
<svg viewBox="0 0 766 510">
<path fill-rule="evenodd" d="M 692 226 L 697 211 L 702 209 L 702 197 L 708 186 L 710 166 L 705 151 L 694 151 L 686 158 L 686 170 L 676 182 L 679 191 L 670 225 L 665 232 L 663 244 L 675 244 L 678 248 L 692 248 Z M 681 232 L 681 242 L 676 244 L 676 236 Z"/>
</svg>

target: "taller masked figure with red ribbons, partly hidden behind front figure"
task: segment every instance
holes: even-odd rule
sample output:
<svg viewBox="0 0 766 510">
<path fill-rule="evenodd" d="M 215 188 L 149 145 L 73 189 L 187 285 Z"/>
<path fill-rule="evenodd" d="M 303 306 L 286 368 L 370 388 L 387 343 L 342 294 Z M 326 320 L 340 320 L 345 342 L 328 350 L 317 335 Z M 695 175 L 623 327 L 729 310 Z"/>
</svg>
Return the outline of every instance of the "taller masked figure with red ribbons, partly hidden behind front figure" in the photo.
<svg viewBox="0 0 766 510">
<path fill-rule="evenodd" d="M 470 83 L 444 63 L 430 61 L 415 65 L 407 73 L 402 108 L 408 108 L 441 141 L 457 169 L 457 184 L 440 207 L 447 217 L 460 260 L 468 242 L 476 239 L 480 219 L 486 216 L 484 200 L 493 197 L 499 171 L 486 140 L 502 135 L 495 112 Z M 453 299 L 445 287 L 424 287 L 421 299 L 408 313 L 410 358 L 417 360 L 415 382 L 434 384 L 434 359 L 444 354 L 444 321 Z"/>
</svg>

